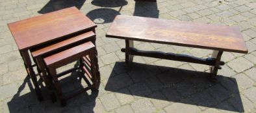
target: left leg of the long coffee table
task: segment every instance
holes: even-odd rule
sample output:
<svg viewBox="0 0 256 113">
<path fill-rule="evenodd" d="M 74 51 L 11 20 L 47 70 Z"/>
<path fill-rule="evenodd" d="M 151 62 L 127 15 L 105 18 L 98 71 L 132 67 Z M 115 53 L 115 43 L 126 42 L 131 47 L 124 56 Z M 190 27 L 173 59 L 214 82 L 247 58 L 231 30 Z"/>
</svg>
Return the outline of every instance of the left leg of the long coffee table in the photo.
<svg viewBox="0 0 256 113">
<path fill-rule="evenodd" d="M 133 55 L 130 54 L 131 47 L 133 47 L 133 41 L 125 39 L 125 63 L 127 65 L 133 62 Z"/>
</svg>

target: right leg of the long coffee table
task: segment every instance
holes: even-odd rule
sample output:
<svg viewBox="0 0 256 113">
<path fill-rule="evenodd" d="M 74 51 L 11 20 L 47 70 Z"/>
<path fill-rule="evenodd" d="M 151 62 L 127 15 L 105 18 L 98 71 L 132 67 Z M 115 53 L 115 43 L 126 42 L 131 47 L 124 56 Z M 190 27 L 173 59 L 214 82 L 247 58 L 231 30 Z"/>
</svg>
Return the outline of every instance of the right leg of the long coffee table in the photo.
<svg viewBox="0 0 256 113">
<path fill-rule="evenodd" d="M 220 67 L 220 59 L 222 57 L 223 51 L 214 50 L 212 52 L 212 58 L 216 59 L 216 63 L 214 66 L 210 66 L 211 79 L 216 81 L 218 68 Z"/>
</svg>

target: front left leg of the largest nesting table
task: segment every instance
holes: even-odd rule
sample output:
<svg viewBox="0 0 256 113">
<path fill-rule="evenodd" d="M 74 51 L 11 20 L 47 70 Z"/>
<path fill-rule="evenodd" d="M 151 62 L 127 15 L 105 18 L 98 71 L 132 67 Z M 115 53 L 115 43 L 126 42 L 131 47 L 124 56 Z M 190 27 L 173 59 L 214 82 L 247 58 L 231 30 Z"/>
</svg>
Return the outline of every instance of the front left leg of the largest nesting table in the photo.
<svg viewBox="0 0 256 113">
<path fill-rule="evenodd" d="M 24 51 L 21 51 L 20 54 L 21 54 L 21 57 L 23 58 L 24 65 L 27 70 L 27 74 L 29 75 L 29 77 L 31 77 L 32 83 L 34 84 L 34 90 L 36 91 L 36 96 L 39 101 L 43 101 L 44 98 L 42 96 L 42 91 L 39 88 L 39 85 L 38 85 L 38 82 L 36 79 L 36 74 L 34 73 L 34 70 L 31 65 L 31 59 L 29 57 L 29 52 L 28 52 L 28 50 L 24 50 Z"/>
</svg>

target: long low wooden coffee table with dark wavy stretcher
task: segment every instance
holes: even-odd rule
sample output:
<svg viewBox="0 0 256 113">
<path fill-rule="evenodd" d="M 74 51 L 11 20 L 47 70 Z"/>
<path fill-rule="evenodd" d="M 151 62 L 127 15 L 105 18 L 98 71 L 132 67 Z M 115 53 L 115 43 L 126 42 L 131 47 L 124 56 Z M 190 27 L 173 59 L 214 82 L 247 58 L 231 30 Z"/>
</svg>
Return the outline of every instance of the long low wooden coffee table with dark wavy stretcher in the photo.
<svg viewBox="0 0 256 113">
<path fill-rule="evenodd" d="M 222 53 L 248 53 L 240 30 L 235 26 L 207 25 L 186 21 L 171 21 L 129 15 L 117 15 L 106 37 L 125 39 L 125 63 L 133 61 L 133 56 L 155 57 L 174 61 L 186 61 L 210 66 L 211 79 L 216 80 Z M 138 50 L 133 41 L 187 46 L 213 50 L 212 56 L 199 58 L 185 54 Z"/>
</svg>

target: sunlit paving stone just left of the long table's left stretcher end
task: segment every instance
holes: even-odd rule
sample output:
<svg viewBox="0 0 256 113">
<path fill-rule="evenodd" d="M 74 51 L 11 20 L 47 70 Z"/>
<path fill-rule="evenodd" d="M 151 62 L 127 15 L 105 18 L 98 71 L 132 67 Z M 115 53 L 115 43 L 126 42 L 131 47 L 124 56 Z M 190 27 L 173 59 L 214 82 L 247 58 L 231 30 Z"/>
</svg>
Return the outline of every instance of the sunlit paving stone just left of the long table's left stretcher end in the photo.
<svg viewBox="0 0 256 113">
<path fill-rule="evenodd" d="M 100 56 L 100 58 L 102 59 L 103 63 L 105 63 L 106 65 L 119 61 L 119 58 L 116 56 L 116 54 L 114 54 L 114 52 Z"/>
</svg>

